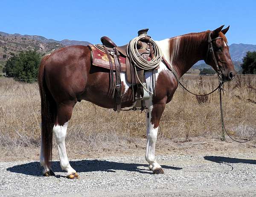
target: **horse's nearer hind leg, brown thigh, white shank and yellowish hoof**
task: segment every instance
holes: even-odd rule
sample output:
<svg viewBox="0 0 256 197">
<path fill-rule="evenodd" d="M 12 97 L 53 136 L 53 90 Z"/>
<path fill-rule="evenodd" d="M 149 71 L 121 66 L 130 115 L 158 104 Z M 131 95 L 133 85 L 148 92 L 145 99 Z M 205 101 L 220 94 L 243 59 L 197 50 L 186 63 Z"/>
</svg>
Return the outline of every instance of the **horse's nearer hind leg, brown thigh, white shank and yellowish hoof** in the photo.
<svg viewBox="0 0 256 197">
<path fill-rule="evenodd" d="M 56 139 L 56 143 L 58 146 L 58 154 L 60 157 L 61 169 L 67 172 L 67 178 L 78 178 L 78 174 L 76 170 L 74 170 L 68 161 L 66 146 L 65 146 L 65 138 L 67 133 L 67 125 L 68 121 L 71 118 L 73 107 L 75 106 L 74 102 L 61 103 L 57 107 L 57 116 L 55 125 L 53 127 L 53 133 Z"/>
</svg>

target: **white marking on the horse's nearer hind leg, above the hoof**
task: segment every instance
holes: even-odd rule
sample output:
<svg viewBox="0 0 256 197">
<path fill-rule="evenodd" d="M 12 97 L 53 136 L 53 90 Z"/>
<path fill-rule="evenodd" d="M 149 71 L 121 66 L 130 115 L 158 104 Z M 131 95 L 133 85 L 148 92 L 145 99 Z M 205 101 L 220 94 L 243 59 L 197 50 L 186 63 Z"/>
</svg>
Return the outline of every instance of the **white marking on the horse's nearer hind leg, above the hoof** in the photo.
<svg viewBox="0 0 256 197">
<path fill-rule="evenodd" d="M 55 139 L 58 146 L 58 154 L 60 157 L 61 169 L 67 171 L 67 175 L 70 175 L 70 174 L 76 173 L 76 171 L 70 166 L 70 163 L 67 158 L 67 152 L 66 152 L 66 146 L 65 146 L 67 125 L 68 125 L 68 122 L 66 122 L 63 126 L 54 125 L 52 130 L 55 135 Z"/>
</svg>

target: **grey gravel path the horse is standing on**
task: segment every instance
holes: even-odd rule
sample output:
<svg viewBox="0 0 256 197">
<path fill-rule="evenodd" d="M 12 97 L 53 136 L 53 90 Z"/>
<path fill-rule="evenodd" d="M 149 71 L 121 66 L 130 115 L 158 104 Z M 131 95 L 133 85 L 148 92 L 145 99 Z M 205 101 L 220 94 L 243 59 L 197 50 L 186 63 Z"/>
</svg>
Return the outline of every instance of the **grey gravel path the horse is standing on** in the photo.
<svg viewBox="0 0 256 197">
<path fill-rule="evenodd" d="M 0 196 L 256 196 L 256 158 L 236 155 L 163 155 L 165 174 L 152 174 L 144 157 L 72 160 L 80 179 L 42 177 L 38 161 L 0 162 Z"/>
</svg>

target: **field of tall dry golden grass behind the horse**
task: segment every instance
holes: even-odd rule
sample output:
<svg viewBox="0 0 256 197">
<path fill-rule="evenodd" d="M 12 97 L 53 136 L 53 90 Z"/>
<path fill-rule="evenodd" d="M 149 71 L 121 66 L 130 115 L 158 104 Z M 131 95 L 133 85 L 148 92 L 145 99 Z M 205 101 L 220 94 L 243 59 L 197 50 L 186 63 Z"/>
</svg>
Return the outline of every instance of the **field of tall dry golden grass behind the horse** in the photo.
<svg viewBox="0 0 256 197">
<path fill-rule="evenodd" d="M 216 76 L 184 76 L 181 80 L 195 93 L 218 86 Z M 247 138 L 256 129 L 256 76 L 236 76 L 224 85 L 226 128 L 234 137 Z M 218 93 L 197 98 L 181 87 L 163 113 L 159 139 L 220 138 Z M 141 146 L 145 142 L 145 113 L 115 113 L 86 101 L 77 103 L 67 132 L 67 146 L 109 151 Z M 14 149 L 40 146 L 40 97 L 37 83 L 0 78 L 0 146 Z"/>
</svg>

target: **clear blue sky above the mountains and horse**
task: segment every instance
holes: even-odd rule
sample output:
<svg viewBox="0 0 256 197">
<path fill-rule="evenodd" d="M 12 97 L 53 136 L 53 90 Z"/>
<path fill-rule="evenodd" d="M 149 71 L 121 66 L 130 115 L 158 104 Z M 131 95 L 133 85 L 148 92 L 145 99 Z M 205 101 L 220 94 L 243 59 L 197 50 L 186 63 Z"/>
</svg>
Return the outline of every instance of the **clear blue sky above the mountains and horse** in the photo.
<svg viewBox="0 0 256 197">
<path fill-rule="evenodd" d="M 256 44 L 255 0 L 12 0 L 0 3 L 0 31 L 118 45 L 149 28 L 161 40 L 230 25 L 230 44 Z"/>
</svg>

